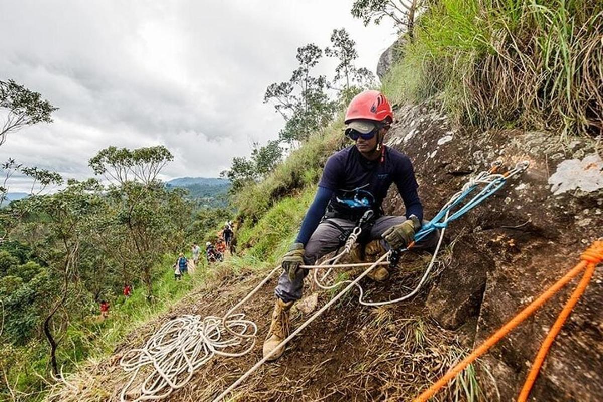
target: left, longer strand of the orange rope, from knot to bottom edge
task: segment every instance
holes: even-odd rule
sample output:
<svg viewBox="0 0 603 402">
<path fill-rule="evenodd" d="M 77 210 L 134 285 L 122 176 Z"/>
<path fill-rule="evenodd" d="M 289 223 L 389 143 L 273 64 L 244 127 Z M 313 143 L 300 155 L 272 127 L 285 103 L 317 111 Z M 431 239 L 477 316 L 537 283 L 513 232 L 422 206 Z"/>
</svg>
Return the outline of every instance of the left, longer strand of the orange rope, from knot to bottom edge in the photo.
<svg viewBox="0 0 603 402">
<path fill-rule="evenodd" d="M 522 321 L 528 318 L 538 308 L 546 303 L 551 297 L 553 297 L 561 288 L 563 288 L 569 281 L 571 281 L 576 275 L 578 275 L 587 265 L 595 266 L 601 260 L 603 260 L 603 241 L 595 241 L 589 249 L 582 254 L 582 261 L 575 267 L 570 269 L 560 280 L 558 280 L 551 287 L 541 294 L 536 300 L 532 301 L 525 309 L 517 313 L 516 316 L 511 318 L 507 324 L 503 325 L 497 330 L 490 338 L 486 339 L 478 348 L 469 354 L 465 359 L 459 362 L 456 366 L 450 369 L 437 383 L 429 387 L 423 394 L 415 398 L 414 402 L 426 402 L 434 396 L 440 389 L 445 386 L 452 378 L 456 377 L 461 371 L 463 371 L 468 365 L 473 363 L 479 356 L 486 353 L 491 347 L 493 347 L 500 339 L 508 334 L 513 328 L 517 327 Z"/>
</svg>

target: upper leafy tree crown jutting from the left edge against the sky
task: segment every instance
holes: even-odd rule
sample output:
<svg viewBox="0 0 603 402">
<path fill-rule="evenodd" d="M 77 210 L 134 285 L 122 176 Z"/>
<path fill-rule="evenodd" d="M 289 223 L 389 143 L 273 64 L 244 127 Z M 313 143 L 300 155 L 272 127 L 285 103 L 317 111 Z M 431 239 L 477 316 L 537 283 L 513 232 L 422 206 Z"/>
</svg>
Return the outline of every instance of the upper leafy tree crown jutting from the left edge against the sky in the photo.
<svg viewBox="0 0 603 402">
<path fill-rule="evenodd" d="M 52 122 L 51 113 L 58 110 L 42 95 L 33 92 L 13 80 L 0 81 L 0 108 L 8 111 L 0 129 L 0 145 L 9 133 L 39 122 Z"/>
</svg>

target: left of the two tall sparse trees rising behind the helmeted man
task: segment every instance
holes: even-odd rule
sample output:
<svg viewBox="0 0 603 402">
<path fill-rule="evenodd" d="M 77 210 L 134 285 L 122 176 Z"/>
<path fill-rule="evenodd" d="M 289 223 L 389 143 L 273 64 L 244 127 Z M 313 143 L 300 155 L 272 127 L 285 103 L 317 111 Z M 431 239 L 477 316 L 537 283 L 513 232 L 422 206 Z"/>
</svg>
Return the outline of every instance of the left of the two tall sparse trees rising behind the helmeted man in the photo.
<svg viewBox="0 0 603 402">
<path fill-rule="evenodd" d="M 323 56 L 323 51 L 314 43 L 297 49 L 300 64 L 286 83 L 268 86 L 264 103 L 273 102 L 274 108 L 285 119 L 285 127 L 279 139 L 291 144 L 303 141 L 330 121 L 335 111 L 335 102 L 329 100 L 326 78 L 313 77 L 311 70 Z"/>
</svg>

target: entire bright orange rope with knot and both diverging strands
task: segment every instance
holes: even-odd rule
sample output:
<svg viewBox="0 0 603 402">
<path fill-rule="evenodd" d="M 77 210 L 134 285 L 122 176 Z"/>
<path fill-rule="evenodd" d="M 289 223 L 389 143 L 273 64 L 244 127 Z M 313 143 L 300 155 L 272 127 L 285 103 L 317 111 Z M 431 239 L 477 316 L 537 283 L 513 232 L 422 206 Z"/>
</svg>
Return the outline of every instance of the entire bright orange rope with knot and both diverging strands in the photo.
<svg viewBox="0 0 603 402">
<path fill-rule="evenodd" d="M 482 356 L 482 354 L 486 353 L 491 347 L 496 345 L 500 339 L 504 338 L 511 330 L 513 330 L 517 325 L 521 324 L 525 321 L 526 318 L 531 316 L 536 310 L 538 310 L 543 304 L 546 303 L 551 297 L 557 294 L 566 284 L 568 284 L 574 277 L 576 277 L 580 272 L 584 271 L 584 275 L 582 276 L 582 280 L 576 287 L 575 291 L 572 293 L 570 298 L 567 300 L 566 305 L 561 310 L 561 313 L 557 317 L 555 324 L 547 334 L 545 341 L 538 350 L 538 354 L 534 360 L 534 364 L 526 378 L 526 382 L 523 385 L 522 391 L 519 394 L 519 398 L 517 398 L 517 402 L 525 402 L 528 399 L 529 392 L 532 389 L 532 385 L 534 385 L 534 381 L 538 375 L 538 371 L 540 371 L 540 367 L 545 360 L 546 354 L 551 347 L 552 342 L 555 339 L 555 336 L 561 330 L 561 326 L 569 316 L 573 307 L 578 303 L 578 299 L 584 294 L 586 290 L 586 286 L 589 284 L 590 279 L 593 276 L 593 272 L 595 271 L 595 266 L 601 263 L 603 260 L 603 241 L 596 240 L 593 244 L 580 256 L 581 262 L 578 265 L 574 266 L 570 269 L 567 274 L 565 274 L 560 280 L 558 280 L 551 287 L 546 289 L 543 294 L 541 294 L 536 300 L 532 301 L 527 307 L 517 313 L 516 316 L 511 318 L 507 324 L 503 325 L 499 330 L 497 330 L 490 338 L 486 339 L 479 347 L 475 348 L 469 356 L 465 357 L 461 362 L 459 362 L 456 366 L 451 368 L 440 380 L 438 380 L 434 385 L 429 387 L 425 392 L 419 395 L 414 399 L 413 402 L 426 402 L 429 398 L 433 397 L 440 389 L 445 386 L 452 378 L 456 377 L 461 371 L 463 371 L 468 365 L 473 363 L 478 357 Z"/>
</svg>

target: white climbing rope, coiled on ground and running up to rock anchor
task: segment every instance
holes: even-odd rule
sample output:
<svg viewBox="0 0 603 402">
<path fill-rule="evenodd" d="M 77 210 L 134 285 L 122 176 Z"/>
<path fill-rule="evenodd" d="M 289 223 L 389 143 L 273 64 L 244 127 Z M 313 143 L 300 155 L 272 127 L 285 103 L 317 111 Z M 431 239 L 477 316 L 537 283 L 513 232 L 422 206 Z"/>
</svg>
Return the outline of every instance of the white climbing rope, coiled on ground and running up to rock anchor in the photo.
<svg viewBox="0 0 603 402">
<path fill-rule="evenodd" d="M 383 306 L 385 304 L 397 303 L 417 294 L 431 272 L 438 251 L 440 250 L 444 231 L 449 222 L 460 218 L 465 213 L 469 212 L 470 209 L 484 201 L 484 199 L 493 195 L 500 187 L 507 183 L 508 179 L 525 171 L 525 169 L 528 168 L 528 165 L 528 162 L 518 163 L 515 168 L 510 169 L 505 174 L 497 174 L 496 171 L 501 166 L 501 163 L 494 163 L 489 171 L 481 172 L 477 177 L 465 184 L 461 191 L 453 195 L 452 198 L 450 198 L 450 201 L 448 201 L 440 212 L 434 216 L 434 219 L 424 224 L 423 228 L 415 234 L 414 241 L 411 242 L 408 247 L 403 248 L 402 250 L 388 251 L 374 263 L 339 264 L 338 262 L 341 257 L 352 251 L 352 248 L 358 241 L 359 236 L 361 236 L 367 222 L 370 222 L 371 218 L 373 218 L 374 212 L 372 210 L 367 210 L 358 221 L 356 227 L 353 228 L 349 236 L 347 236 L 341 252 L 336 253 L 334 257 L 325 260 L 320 265 L 302 265 L 300 267 L 303 269 L 314 270 L 314 281 L 321 289 L 333 289 L 335 287 L 343 286 L 344 284 L 347 284 L 347 286 L 336 294 L 335 297 L 331 298 L 331 300 L 321 307 L 320 310 L 303 322 L 303 324 L 277 345 L 271 353 L 267 354 L 267 356 L 245 372 L 244 375 L 239 377 L 235 383 L 213 399 L 213 402 L 221 401 L 226 397 L 226 395 L 232 392 L 239 384 L 256 371 L 257 368 L 270 359 L 280 347 L 291 341 L 291 339 L 300 333 L 303 328 L 308 326 L 353 287 L 358 288 L 359 303 L 364 306 Z M 473 198 L 466 203 L 463 203 L 463 201 L 469 198 L 469 195 L 476 191 L 480 186 L 484 187 L 473 196 Z M 434 255 L 414 290 L 409 294 L 394 300 L 370 302 L 362 299 L 364 291 L 359 285 L 359 281 L 361 281 L 362 278 L 369 274 L 376 266 L 391 265 L 392 263 L 395 263 L 395 259 L 399 258 L 401 253 L 411 250 L 416 242 L 424 239 L 429 233 L 437 229 L 441 229 L 441 231 Z M 319 269 L 326 268 L 327 266 L 329 267 L 329 271 L 327 271 L 319 280 Z M 358 266 L 367 268 L 354 280 L 339 281 L 330 285 L 321 283 L 333 268 Z M 201 316 L 198 315 L 186 315 L 172 319 L 171 321 L 166 322 L 156 334 L 148 339 L 144 347 L 133 349 L 125 353 L 119 364 L 125 371 L 131 372 L 132 374 L 130 380 L 121 391 L 120 400 L 125 402 L 127 400 L 145 401 L 165 398 L 174 392 L 175 389 L 180 389 L 185 386 L 191 380 L 194 372 L 203 366 L 204 363 L 212 359 L 213 356 L 239 357 L 244 356 L 253 350 L 257 341 L 257 325 L 253 321 L 245 319 L 244 313 L 235 314 L 234 312 L 247 302 L 247 300 L 253 297 L 253 295 L 256 294 L 257 291 L 259 291 L 259 289 L 264 286 L 277 271 L 279 271 L 279 269 L 280 266 L 272 269 L 264 280 L 257 284 L 245 298 L 228 310 L 224 316 L 207 316 L 206 318 L 201 318 Z M 229 351 L 226 351 L 227 348 L 229 348 Z M 139 374 L 144 376 L 144 379 L 139 381 L 140 389 L 134 391 L 134 380 L 136 380 Z"/>
</svg>

